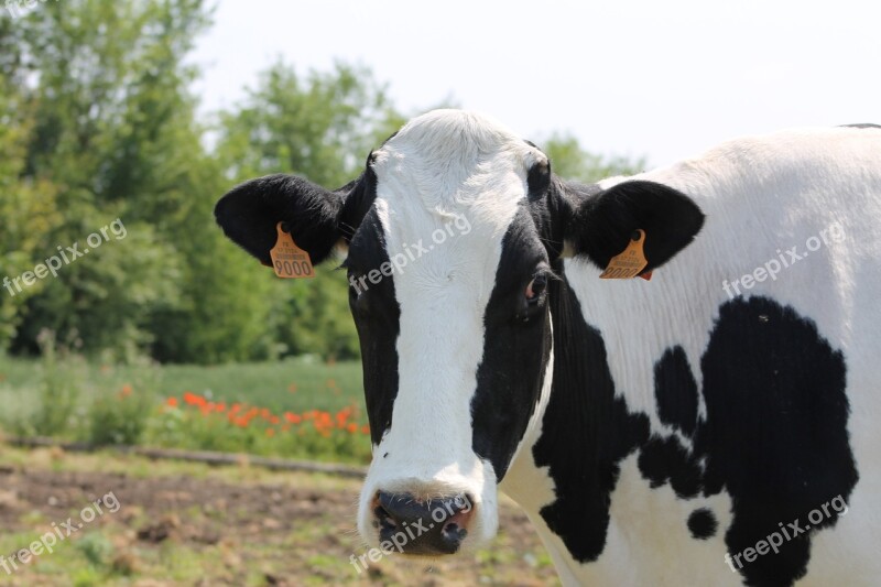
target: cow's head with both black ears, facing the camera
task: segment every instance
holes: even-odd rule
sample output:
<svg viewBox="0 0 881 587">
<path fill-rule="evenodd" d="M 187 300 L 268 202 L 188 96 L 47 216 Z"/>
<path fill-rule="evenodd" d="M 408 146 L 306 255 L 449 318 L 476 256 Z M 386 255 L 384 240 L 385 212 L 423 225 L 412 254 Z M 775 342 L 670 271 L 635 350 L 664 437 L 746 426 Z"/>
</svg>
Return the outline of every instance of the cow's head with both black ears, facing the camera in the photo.
<svg viewBox="0 0 881 587">
<path fill-rule="evenodd" d="M 657 184 L 565 184 L 536 146 L 455 110 L 412 120 L 335 192 L 261 177 L 225 195 L 216 217 L 264 263 L 279 221 L 316 263 L 347 251 L 373 443 L 358 529 L 409 554 L 494 534 L 497 485 L 550 389 L 564 250 L 605 267 L 641 228 L 648 271 L 703 224 Z"/>
</svg>

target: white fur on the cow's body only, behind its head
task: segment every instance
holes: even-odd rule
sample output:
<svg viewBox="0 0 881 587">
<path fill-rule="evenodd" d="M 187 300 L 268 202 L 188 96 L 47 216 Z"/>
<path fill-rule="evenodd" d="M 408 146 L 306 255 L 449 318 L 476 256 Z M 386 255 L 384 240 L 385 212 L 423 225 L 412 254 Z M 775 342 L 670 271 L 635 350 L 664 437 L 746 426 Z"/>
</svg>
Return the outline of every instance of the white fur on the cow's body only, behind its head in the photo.
<svg viewBox="0 0 881 587">
<path fill-rule="evenodd" d="M 834 222 L 841 242 L 824 244 L 783 269 L 776 280 L 742 292 L 765 295 L 812 318 L 820 336 L 845 354 L 850 444 L 860 480 L 848 514 L 835 529 L 815 533 L 807 576 L 798 585 L 877 585 L 881 558 L 881 400 L 878 331 L 881 327 L 881 131 L 814 129 L 746 138 L 706 155 L 632 177 L 688 194 L 707 215 L 695 242 L 643 280 L 600 280 L 586 262 L 566 261 L 566 275 L 585 319 L 597 327 L 609 355 L 616 390 L 631 411 L 649 415 L 652 432 L 670 434 L 659 421 L 653 366 L 682 345 L 701 385 L 700 357 L 720 304 L 722 281 L 752 273 L 776 250 L 798 246 Z M 747 181 L 744 181 L 747 178 Z M 627 178 L 603 183 L 605 187 Z M 828 232 L 827 232 L 828 233 Z M 700 413 L 704 414 L 703 398 Z M 686 443 L 688 446 L 688 443 Z M 529 452 L 523 452 L 529 454 Z M 546 488 L 545 472 L 518 464 L 507 486 Z M 507 480 L 508 481 L 508 480 Z M 553 502 L 546 489 L 544 503 Z M 515 498 L 516 499 L 516 498 Z M 719 518 L 714 539 L 696 541 L 685 525 L 690 511 L 707 506 Z M 820 504 L 817 504 L 819 507 Z M 650 489 L 631 455 L 612 494 L 606 550 L 589 565 L 573 561 L 530 508 L 554 561 L 572 585 L 741 585 L 726 565 L 724 537 L 731 522 L 729 498 L 681 500 L 670 487 Z M 807 512 L 805 512 L 806 514 Z M 791 520 L 780 520 L 790 522 Z M 759 540 L 761 536 L 757 536 Z M 773 556 L 773 555 L 766 555 Z"/>
</svg>

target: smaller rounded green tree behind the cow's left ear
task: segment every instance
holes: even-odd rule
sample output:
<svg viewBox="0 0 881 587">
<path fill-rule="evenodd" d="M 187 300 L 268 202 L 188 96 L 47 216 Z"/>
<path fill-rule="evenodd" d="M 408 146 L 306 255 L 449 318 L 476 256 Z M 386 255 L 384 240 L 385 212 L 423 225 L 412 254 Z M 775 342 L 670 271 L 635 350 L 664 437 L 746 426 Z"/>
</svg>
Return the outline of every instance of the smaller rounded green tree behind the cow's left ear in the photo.
<svg viewBox="0 0 881 587">
<path fill-rule="evenodd" d="M 280 62 L 244 104 L 222 113 L 218 154 L 231 182 L 293 173 L 337 187 L 357 177 L 370 150 L 402 122 L 368 69 L 338 63 L 302 76 Z M 281 354 L 358 356 L 348 285 L 333 262 L 316 268 L 309 282 L 281 282 L 262 271 L 272 281 L 268 324 Z"/>
</svg>

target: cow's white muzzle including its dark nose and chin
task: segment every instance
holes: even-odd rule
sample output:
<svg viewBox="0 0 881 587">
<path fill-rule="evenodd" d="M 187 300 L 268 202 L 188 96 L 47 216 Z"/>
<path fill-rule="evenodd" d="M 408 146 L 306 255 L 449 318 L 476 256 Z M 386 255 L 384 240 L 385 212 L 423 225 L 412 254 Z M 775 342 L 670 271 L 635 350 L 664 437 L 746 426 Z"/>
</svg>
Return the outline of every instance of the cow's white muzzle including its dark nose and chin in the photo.
<svg viewBox="0 0 881 587">
<path fill-rule="evenodd" d="M 471 455 L 467 466 L 418 466 L 383 459 L 361 490 L 358 532 L 383 553 L 437 557 L 470 552 L 496 535 L 498 485 L 492 466 Z"/>
</svg>

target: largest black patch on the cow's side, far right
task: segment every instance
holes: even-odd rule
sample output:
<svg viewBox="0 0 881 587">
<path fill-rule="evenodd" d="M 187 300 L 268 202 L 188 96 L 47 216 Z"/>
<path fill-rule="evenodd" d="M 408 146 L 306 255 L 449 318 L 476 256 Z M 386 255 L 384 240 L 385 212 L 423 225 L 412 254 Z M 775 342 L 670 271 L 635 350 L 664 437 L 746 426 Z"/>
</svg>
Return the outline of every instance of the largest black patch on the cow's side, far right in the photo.
<svg viewBox="0 0 881 587">
<path fill-rule="evenodd" d="M 700 360 L 707 420 L 696 437 L 706 456 L 705 493 L 728 491 L 732 555 L 841 496 L 858 475 L 847 433 L 845 359 L 813 322 L 772 300 L 724 304 Z M 831 526 L 838 514 L 812 530 Z M 811 534 L 779 554 L 742 561 L 749 585 L 792 585 L 804 576 Z"/>
</svg>

